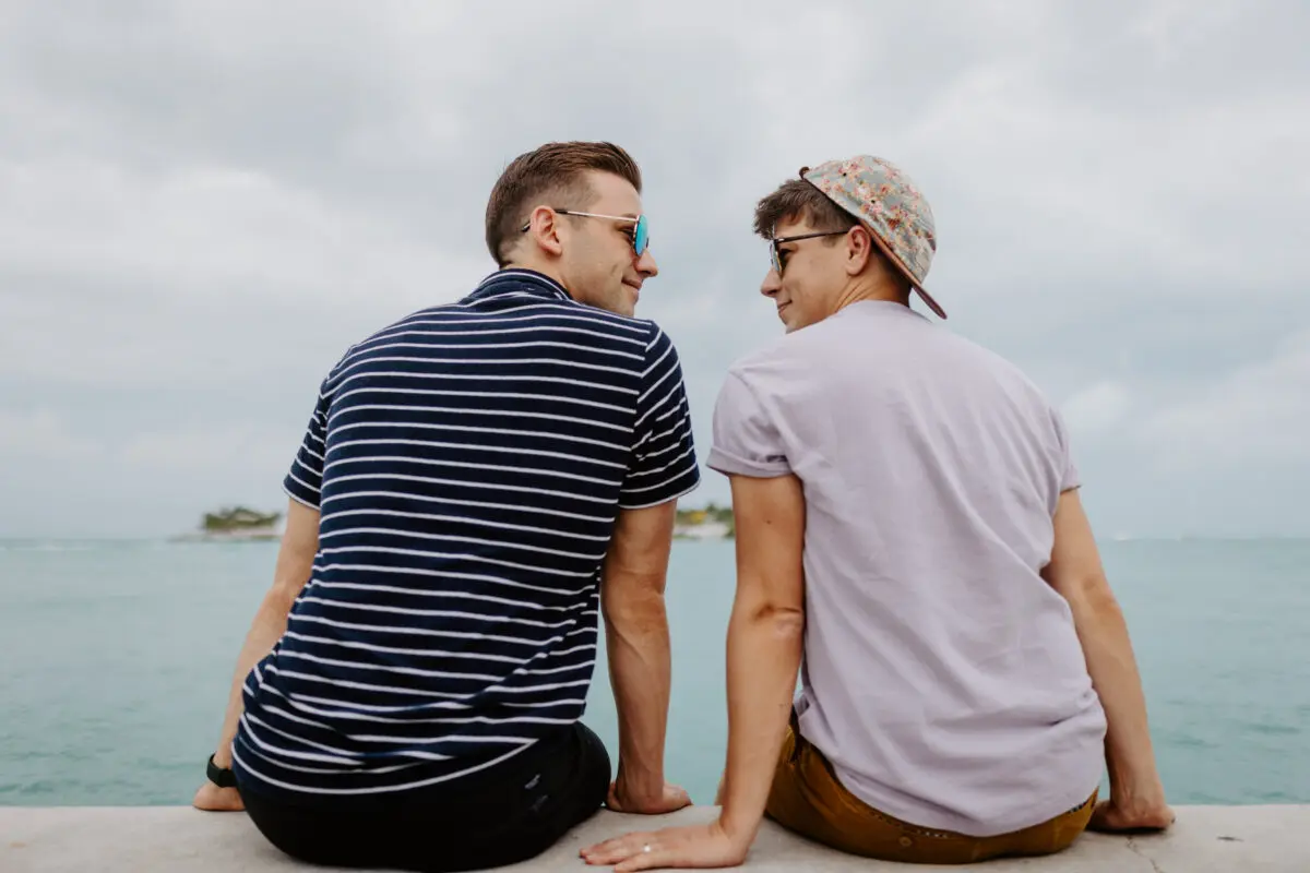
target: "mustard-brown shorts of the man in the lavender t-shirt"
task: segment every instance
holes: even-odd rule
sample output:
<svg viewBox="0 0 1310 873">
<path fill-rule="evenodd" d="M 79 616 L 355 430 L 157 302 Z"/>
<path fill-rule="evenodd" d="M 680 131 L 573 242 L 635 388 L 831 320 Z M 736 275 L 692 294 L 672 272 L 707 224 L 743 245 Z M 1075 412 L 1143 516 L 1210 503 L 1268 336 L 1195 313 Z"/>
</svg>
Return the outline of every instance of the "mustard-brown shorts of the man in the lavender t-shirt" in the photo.
<svg viewBox="0 0 1310 873">
<path fill-rule="evenodd" d="M 787 830 L 852 855 L 907 864 L 972 864 L 1064 851 L 1087 828 L 1095 805 L 1094 791 L 1077 809 L 1000 836 L 918 827 L 878 811 L 846 791 L 823 753 L 800 736 L 793 716 L 765 814 Z"/>
</svg>

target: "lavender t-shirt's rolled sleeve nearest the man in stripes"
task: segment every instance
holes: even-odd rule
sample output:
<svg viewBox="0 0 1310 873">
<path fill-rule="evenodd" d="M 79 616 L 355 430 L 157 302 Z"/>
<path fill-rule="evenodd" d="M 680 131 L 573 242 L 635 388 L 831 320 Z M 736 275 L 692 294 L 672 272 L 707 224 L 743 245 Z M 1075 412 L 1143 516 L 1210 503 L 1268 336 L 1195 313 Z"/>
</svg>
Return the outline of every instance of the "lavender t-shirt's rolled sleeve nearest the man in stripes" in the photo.
<svg viewBox="0 0 1310 873">
<path fill-rule="evenodd" d="M 738 372 L 728 373 L 714 403 L 714 442 L 706 466 L 724 475 L 756 478 L 791 472 L 777 427 Z"/>
</svg>

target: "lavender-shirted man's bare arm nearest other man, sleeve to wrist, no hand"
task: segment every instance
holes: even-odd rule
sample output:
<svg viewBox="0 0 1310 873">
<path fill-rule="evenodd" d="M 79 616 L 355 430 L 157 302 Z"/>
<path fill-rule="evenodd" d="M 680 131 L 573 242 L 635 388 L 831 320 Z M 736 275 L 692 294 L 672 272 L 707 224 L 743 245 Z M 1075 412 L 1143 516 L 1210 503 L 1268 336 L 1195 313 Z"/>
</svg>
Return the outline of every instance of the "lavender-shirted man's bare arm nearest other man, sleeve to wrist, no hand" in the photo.
<svg viewBox="0 0 1310 873">
<path fill-rule="evenodd" d="M 804 645 L 806 501 L 794 475 L 732 476 L 738 588 L 728 619 L 728 754 L 720 822 L 755 840 L 786 734 Z"/>
</svg>

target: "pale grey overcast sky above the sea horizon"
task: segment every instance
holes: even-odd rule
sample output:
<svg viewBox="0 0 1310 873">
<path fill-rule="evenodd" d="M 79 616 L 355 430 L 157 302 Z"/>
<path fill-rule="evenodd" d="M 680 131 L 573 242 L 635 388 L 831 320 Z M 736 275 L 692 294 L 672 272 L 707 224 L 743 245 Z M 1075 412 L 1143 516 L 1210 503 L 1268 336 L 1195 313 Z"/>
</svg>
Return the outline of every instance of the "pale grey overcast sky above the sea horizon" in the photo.
<svg viewBox="0 0 1310 873">
<path fill-rule="evenodd" d="M 1310 535 L 1307 42 L 1300 1 L 7 3 L 0 537 L 282 508 L 328 368 L 490 272 L 491 185 L 565 139 L 642 165 L 702 461 L 779 332 L 755 202 L 874 153 L 1100 535 Z"/>
</svg>

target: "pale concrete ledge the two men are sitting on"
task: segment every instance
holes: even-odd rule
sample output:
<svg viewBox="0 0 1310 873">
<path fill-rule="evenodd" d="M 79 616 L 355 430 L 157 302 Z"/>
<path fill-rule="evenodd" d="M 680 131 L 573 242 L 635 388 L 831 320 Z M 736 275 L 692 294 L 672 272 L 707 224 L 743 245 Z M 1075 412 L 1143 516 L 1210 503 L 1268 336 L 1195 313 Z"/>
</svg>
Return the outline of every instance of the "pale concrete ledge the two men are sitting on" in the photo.
<svg viewBox="0 0 1310 873">
<path fill-rule="evenodd" d="M 1183 806 L 1178 823 L 1155 836 L 1086 834 L 1069 851 L 1045 859 L 977 865 L 988 873 L 1306 873 L 1310 872 L 1310 806 Z M 578 849 L 629 830 L 703 822 L 713 806 L 647 818 L 601 811 L 545 855 L 503 870 L 600 870 L 588 868 Z M 0 808 L 0 870 L 166 870 L 215 873 L 305 868 L 274 849 L 244 813 L 200 813 L 181 806 Z M 318 868 L 321 869 L 321 868 Z M 751 849 L 744 869 L 959 870 L 907 866 L 852 857 L 799 839 L 772 822 Z"/>
</svg>

